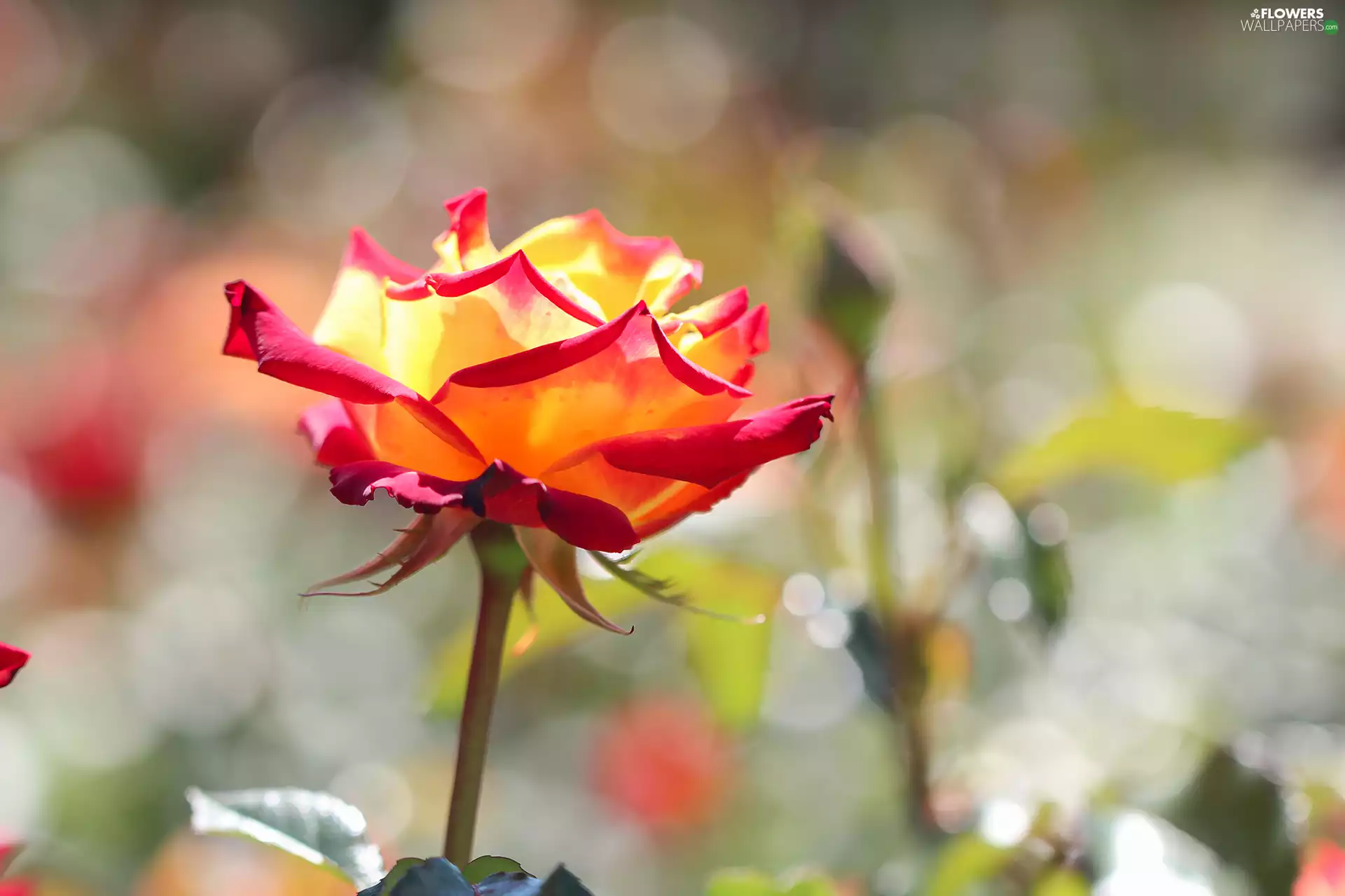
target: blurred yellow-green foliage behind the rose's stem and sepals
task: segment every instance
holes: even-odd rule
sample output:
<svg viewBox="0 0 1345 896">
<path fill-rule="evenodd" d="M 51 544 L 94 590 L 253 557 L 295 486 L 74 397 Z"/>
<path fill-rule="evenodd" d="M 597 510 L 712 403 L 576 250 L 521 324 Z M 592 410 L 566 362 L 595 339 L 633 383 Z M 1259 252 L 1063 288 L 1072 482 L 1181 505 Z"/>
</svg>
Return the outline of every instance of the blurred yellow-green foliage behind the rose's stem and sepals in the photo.
<svg viewBox="0 0 1345 896">
<path fill-rule="evenodd" d="M 697 606 L 730 615 L 769 614 L 780 595 L 781 580 L 773 572 L 685 548 L 642 556 L 639 570 L 651 576 L 677 582 L 678 588 Z M 599 611 L 609 619 L 629 617 L 644 610 L 675 614 L 687 633 L 691 666 L 718 719 L 729 725 L 745 725 L 756 720 L 765 690 L 771 649 L 769 623 L 744 625 L 660 607 L 617 579 L 585 579 L 584 588 Z M 580 637 L 604 634 L 574 615 L 545 582 L 535 583 L 534 606 L 537 639 L 522 656 L 510 653 L 504 657 L 504 676 Z M 510 617 L 506 635 L 510 643 L 523 638 L 530 625 L 529 615 L 522 607 L 516 609 Z M 471 650 L 472 630 L 467 626 L 440 653 L 433 677 L 434 712 L 455 713 L 460 709 Z"/>
</svg>

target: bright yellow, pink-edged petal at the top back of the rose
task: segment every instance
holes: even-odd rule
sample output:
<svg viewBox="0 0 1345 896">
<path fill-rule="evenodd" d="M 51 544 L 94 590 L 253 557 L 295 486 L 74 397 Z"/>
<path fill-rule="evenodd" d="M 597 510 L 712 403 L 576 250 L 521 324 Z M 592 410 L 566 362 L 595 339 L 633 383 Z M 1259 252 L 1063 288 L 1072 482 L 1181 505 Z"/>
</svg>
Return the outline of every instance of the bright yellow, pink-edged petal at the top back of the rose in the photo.
<svg viewBox="0 0 1345 896">
<path fill-rule="evenodd" d="M 682 257 L 667 236 L 627 236 L 597 210 L 538 224 L 503 254 L 527 253 L 547 279 L 564 277 L 608 320 L 638 301 L 655 313 L 701 285 L 701 263 Z"/>
</svg>

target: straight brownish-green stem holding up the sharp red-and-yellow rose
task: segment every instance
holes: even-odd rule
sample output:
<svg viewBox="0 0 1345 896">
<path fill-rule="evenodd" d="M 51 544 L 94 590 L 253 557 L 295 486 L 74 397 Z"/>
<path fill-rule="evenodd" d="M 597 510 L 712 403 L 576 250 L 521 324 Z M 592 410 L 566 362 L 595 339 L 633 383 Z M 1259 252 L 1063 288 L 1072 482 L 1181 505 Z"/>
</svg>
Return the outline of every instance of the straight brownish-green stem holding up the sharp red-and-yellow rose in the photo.
<svg viewBox="0 0 1345 896">
<path fill-rule="evenodd" d="M 491 713 L 504 660 L 504 634 L 514 592 L 527 568 L 527 560 L 507 525 L 482 523 L 472 531 L 472 544 L 482 566 L 482 606 L 467 673 L 467 699 L 457 729 L 457 767 L 448 803 L 448 832 L 444 834 L 444 857 L 459 868 L 472 860 Z"/>
</svg>

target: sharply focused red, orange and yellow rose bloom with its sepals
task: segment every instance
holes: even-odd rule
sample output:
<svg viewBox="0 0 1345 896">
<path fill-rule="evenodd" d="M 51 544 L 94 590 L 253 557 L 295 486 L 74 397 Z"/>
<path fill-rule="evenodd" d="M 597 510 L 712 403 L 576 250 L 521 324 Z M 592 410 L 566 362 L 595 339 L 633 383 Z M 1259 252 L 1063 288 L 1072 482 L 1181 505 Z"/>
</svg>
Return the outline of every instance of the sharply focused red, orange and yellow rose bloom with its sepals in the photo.
<svg viewBox="0 0 1345 896">
<path fill-rule="evenodd" d="M 399 567 L 382 591 L 494 520 L 580 615 L 613 627 L 584 598 L 573 548 L 624 551 L 709 509 L 807 449 L 831 396 L 732 419 L 768 347 L 767 309 L 737 289 L 672 313 L 701 265 L 671 239 L 590 211 L 496 250 L 484 191 L 447 208 L 428 271 L 354 230 L 312 336 L 252 285 L 225 287 L 225 353 L 331 396 L 300 429 L 332 494 L 366 504 L 382 489 L 418 514 L 317 587 Z"/>
</svg>

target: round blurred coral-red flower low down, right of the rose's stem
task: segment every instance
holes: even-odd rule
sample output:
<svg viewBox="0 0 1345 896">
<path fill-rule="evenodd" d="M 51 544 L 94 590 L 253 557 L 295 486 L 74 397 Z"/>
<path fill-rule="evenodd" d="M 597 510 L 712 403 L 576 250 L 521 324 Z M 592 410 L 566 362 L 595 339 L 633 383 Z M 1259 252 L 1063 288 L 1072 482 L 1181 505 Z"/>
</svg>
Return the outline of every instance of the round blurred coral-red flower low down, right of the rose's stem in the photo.
<svg viewBox="0 0 1345 896">
<path fill-rule="evenodd" d="M 643 699 L 599 732 L 593 782 L 603 799 L 655 834 L 705 823 L 733 774 L 732 744 L 699 704 Z"/>
</svg>

